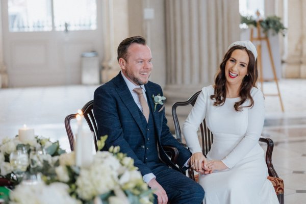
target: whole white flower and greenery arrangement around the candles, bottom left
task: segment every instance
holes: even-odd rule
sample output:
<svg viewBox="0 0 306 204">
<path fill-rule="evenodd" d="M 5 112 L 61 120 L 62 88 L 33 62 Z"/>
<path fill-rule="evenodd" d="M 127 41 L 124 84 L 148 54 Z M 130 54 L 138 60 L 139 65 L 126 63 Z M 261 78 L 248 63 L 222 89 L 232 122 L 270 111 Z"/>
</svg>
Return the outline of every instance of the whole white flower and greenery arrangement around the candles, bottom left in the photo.
<svg viewBox="0 0 306 204">
<path fill-rule="evenodd" d="M 98 141 L 103 148 L 107 136 Z M 14 180 L 14 169 L 10 166 L 10 154 L 20 146 L 31 149 L 45 148 L 46 154 L 35 165 L 29 165 L 26 173 L 41 175 L 35 183 L 24 179 Z M 151 204 L 152 190 L 142 180 L 134 166 L 134 160 L 119 152 L 119 147 L 109 151 L 98 151 L 90 165 L 75 165 L 75 152 L 66 153 L 58 142 L 35 137 L 30 143 L 22 143 L 18 136 L 4 139 L 0 146 L 1 176 L 14 180 L 9 203 L 85 203 L 85 204 Z M 30 159 L 31 160 L 31 159 Z M 31 162 L 30 162 L 31 163 Z M 37 165 L 40 164 L 40 165 Z M 18 177 L 18 176 L 17 176 Z M 30 185 L 29 185 L 30 184 Z M 31 195 L 31 196 L 29 196 Z"/>
</svg>

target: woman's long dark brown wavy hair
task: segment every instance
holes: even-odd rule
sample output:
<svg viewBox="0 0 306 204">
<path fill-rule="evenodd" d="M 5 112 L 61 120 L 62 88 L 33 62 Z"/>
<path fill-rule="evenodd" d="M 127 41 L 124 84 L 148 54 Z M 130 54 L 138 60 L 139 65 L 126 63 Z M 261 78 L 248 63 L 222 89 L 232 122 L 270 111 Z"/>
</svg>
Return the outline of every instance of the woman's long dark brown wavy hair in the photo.
<svg viewBox="0 0 306 204">
<path fill-rule="evenodd" d="M 257 70 L 257 60 L 255 59 L 253 53 L 247 48 L 235 45 L 227 50 L 227 53 L 224 55 L 223 61 L 220 64 L 220 69 L 215 79 L 215 92 L 211 95 L 211 99 L 215 100 L 214 106 L 222 106 L 225 103 L 226 99 L 226 78 L 225 78 L 225 65 L 228 59 L 232 56 L 232 53 L 235 49 L 245 50 L 248 57 L 249 63 L 247 66 L 247 74 L 242 80 L 239 96 L 241 98 L 240 101 L 236 102 L 234 108 L 236 111 L 242 111 L 242 108 L 253 107 L 254 100 L 251 96 L 252 87 L 256 87 L 256 82 L 258 78 L 258 70 Z M 242 106 L 242 104 L 248 100 L 250 104 L 248 106 Z"/>
</svg>

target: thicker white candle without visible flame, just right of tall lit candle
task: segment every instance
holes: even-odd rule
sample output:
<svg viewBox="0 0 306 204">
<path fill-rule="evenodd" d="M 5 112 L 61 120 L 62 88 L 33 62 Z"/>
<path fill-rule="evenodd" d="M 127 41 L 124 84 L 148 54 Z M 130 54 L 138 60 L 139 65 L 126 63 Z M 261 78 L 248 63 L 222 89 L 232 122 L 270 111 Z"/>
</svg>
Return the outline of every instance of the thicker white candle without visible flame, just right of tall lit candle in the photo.
<svg viewBox="0 0 306 204">
<path fill-rule="evenodd" d="M 82 132 L 82 167 L 89 167 L 93 161 L 93 135 L 92 132 Z"/>
</svg>

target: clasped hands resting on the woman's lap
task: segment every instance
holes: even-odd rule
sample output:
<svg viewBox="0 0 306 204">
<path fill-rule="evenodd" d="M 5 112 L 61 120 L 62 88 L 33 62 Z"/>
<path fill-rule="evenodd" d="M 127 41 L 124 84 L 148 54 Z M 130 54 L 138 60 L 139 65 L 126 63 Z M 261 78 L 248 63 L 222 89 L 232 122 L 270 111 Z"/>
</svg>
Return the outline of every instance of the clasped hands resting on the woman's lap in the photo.
<svg viewBox="0 0 306 204">
<path fill-rule="evenodd" d="M 202 152 L 195 152 L 192 154 L 190 166 L 200 174 L 209 174 L 214 170 L 224 170 L 228 168 L 221 160 L 207 161 Z"/>
</svg>

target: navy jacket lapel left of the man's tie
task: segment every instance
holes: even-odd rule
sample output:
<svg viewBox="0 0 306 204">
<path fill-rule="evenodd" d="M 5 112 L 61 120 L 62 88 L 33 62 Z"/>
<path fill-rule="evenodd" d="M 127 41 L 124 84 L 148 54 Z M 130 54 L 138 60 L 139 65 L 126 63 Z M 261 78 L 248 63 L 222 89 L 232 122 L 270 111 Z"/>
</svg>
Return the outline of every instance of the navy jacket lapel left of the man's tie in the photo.
<svg viewBox="0 0 306 204">
<path fill-rule="evenodd" d="M 143 137 L 145 136 L 145 129 L 146 129 L 146 124 L 143 123 L 142 117 L 140 114 L 142 114 L 139 111 L 138 106 L 135 104 L 134 98 L 129 90 L 129 88 L 127 88 L 126 83 L 124 82 L 121 73 L 119 73 L 117 75 L 117 77 L 115 78 L 116 80 L 114 81 L 114 83 L 117 85 L 117 92 L 119 94 L 119 97 L 121 98 L 123 104 L 126 106 L 127 110 L 129 110 L 129 112 L 131 113 L 131 115 L 133 116 L 134 120 L 136 121 L 137 125 L 139 126 Z"/>
</svg>

